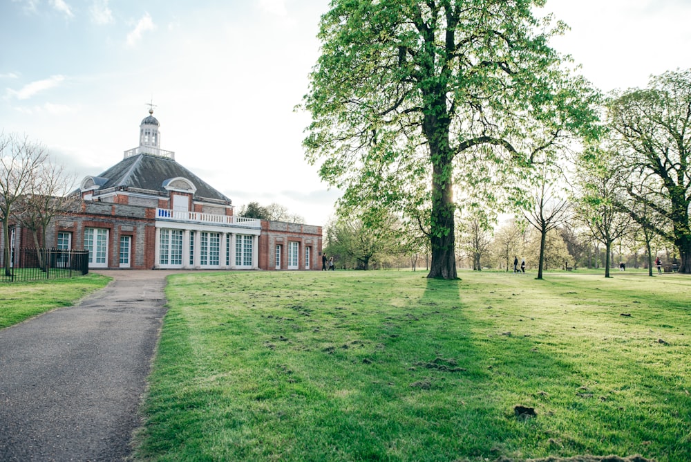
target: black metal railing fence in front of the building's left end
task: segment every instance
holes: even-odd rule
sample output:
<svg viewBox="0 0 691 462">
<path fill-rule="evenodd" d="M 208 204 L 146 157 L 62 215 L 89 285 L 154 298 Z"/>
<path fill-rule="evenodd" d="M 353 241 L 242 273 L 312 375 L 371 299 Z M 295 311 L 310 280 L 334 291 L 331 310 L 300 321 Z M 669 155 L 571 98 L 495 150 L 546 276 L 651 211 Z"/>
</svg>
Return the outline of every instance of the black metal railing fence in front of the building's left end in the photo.
<svg viewBox="0 0 691 462">
<path fill-rule="evenodd" d="M 88 250 L 12 249 L 10 267 L 0 258 L 0 282 L 41 281 L 88 273 Z"/>
</svg>

